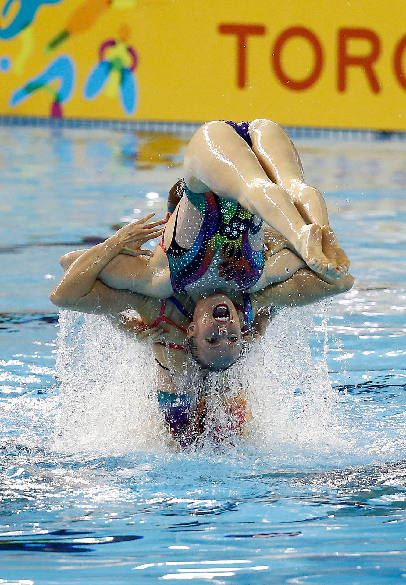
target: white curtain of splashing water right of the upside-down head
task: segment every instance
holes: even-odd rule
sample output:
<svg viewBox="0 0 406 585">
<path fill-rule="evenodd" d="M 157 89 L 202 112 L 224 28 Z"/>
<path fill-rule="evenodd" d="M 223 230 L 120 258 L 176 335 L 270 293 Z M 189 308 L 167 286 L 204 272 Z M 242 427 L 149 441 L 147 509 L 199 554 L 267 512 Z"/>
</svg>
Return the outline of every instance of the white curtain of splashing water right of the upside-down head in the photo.
<svg viewBox="0 0 406 585">
<path fill-rule="evenodd" d="M 252 433 L 264 445 L 275 442 L 317 442 L 331 423 L 338 400 L 326 362 L 327 304 L 320 304 L 323 334 L 312 355 L 309 338 L 315 333 L 314 307 L 284 309 L 267 335 L 247 353 L 243 366 L 253 412 Z"/>
</svg>

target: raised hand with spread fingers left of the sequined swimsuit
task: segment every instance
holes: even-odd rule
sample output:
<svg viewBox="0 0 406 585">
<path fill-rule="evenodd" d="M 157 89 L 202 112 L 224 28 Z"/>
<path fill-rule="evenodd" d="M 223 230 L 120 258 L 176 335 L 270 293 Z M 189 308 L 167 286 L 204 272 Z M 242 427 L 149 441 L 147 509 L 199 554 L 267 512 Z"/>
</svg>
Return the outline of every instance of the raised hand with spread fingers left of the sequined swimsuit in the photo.
<svg viewBox="0 0 406 585">
<path fill-rule="evenodd" d="M 152 240 L 153 238 L 159 238 L 162 235 L 163 228 L 158 226 L 166 223 L 166 219 L 158 219 L 146 223 L 154 214 L 148 214 L 144 218 L 138 221 L 133 221 L 119 229 L 112 236 L 112 241 L 115 245 L 118 245 L 119 252 L 122 254 L 129 254 L 129 256 L 153 256 L 150 250 L 142 250 L 141 246 Z"/>
</svg>

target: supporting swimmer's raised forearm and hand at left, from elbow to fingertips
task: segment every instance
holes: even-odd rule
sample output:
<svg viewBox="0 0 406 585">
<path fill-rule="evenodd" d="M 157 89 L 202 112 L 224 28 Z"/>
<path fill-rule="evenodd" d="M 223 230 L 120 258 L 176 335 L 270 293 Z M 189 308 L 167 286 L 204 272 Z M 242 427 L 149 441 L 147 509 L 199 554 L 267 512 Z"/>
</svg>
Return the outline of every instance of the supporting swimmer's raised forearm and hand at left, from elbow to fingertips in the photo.
<svg viewBox="0 0 406 585">
<path fill-rule="evenodd" d="M 119 253 L 152 255 L 149 250 L 141 250 L 140 246 L 161 234 L 157 226 L 163 222 L 145 224 L 153 214 L 138 222 L 130 223 L 121 228 L 111 238 L 82 253 L 68 268 L 59 284 L 50 295 L 50 300 L 59 307 L 85 310 L 79 308 L 80 301 L 88 295 L 95 285 L 98 274 Z M 122 309 L 123 310 L 123 309 Z"/>
</svg>

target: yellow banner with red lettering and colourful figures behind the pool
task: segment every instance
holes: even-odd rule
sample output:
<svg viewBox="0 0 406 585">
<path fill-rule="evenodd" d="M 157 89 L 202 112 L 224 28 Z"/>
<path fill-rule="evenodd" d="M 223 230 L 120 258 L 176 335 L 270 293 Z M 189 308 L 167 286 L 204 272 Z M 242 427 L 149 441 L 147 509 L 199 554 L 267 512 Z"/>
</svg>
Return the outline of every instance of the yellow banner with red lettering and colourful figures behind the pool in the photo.
<svg viewBox="0 0 406 585">
<path fill-rule="evenodd" d="M 0 114 L 406 130 L 383 0 L 0 0 Z"/>
</svg>

